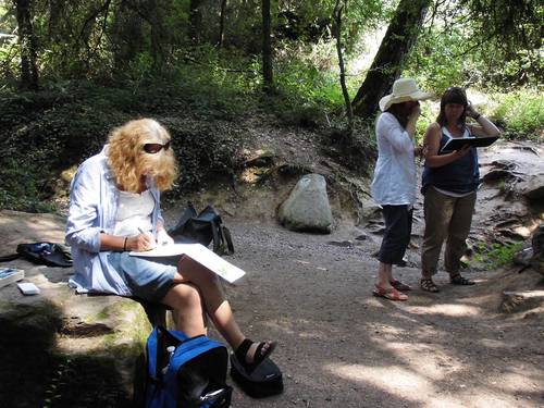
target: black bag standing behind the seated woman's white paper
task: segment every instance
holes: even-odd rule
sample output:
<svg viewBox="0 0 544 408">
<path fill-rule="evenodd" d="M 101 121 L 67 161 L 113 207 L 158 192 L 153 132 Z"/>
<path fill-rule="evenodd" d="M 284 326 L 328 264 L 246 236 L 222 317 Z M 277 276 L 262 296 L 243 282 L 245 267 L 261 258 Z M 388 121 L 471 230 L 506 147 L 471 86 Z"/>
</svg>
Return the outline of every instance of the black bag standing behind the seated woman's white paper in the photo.
<svg viewBox="0 0 544 408">
<path fill-rule="evenodd" d="M 213 242 L 215 254 L 234 254 L 231 232 L 212 205 L 197 214 L 193 203 L 188 202 L 176 225 L 168 233 L 176 243 L 199 243 L 207 247 Z"/>
</svg>

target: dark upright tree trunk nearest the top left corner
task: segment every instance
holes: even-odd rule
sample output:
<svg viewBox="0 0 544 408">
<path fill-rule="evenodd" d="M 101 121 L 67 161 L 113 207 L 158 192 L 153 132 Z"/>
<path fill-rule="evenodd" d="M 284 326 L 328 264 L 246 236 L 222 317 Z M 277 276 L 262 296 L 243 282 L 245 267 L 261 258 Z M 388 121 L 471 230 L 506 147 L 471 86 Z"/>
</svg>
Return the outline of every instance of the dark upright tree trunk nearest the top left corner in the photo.
<svg viewBox="0 0 544 408">
<path fill-rule="evenodd" d="M 21 45 L 21 87 L 38 89 L 37 47 L 30 17 L 30 3 L 32 0 L 14 0 Z"/>
</svg>

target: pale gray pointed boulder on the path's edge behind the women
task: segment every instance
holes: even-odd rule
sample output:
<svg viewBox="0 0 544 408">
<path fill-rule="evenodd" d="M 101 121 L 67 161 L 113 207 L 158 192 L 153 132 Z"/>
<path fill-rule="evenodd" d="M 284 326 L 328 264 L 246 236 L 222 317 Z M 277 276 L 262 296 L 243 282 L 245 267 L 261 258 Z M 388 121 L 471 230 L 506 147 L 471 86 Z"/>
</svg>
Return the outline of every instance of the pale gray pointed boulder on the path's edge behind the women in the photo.
<svg viewBox="0 0 544 408">
<path fill-rule="evenodd" d="M 331 233 L 333 214 L 325 177 L 307 174 L 300 178 L 277 213 L 280 223 L 293 231 Z"/>
</svg>

